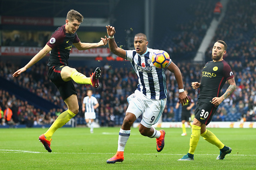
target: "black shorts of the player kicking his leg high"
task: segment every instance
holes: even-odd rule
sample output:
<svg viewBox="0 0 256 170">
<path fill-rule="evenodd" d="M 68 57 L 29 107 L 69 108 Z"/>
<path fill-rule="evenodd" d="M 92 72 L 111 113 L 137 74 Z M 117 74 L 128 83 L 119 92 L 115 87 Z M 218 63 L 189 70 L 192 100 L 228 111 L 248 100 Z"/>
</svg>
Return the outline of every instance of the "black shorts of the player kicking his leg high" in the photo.
<svg viewBox="0 0 256 170">
<path fill-rule="evenodd" d="M 50 80 L 59 89 L 59 94 L 63 100 L 66 100 L 72 94 L 77 94 L 72 80 L 65 82 L 62 80 L 60 72 L 65 66 L 52 66 L 49 67 L 48 76 Z"/>
</svg>

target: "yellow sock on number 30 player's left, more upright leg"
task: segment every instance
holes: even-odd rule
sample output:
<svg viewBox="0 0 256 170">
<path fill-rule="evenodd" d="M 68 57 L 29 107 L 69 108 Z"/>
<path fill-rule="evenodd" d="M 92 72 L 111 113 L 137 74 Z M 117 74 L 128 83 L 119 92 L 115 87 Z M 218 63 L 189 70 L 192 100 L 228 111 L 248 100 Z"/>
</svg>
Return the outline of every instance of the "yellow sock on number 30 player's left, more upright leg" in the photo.
<svg viewBox="0 0 256 170">
<path fill-rule="evenodd" d="M 193 154 L 197 148 L 197 143 L 200 139 L 200 134 L 201 134 L 201 127 L 192 124 L 192 134 L 190 136 L 190 142 L 189 142 L 189 151 L 188 153 Z"/>
</svg>

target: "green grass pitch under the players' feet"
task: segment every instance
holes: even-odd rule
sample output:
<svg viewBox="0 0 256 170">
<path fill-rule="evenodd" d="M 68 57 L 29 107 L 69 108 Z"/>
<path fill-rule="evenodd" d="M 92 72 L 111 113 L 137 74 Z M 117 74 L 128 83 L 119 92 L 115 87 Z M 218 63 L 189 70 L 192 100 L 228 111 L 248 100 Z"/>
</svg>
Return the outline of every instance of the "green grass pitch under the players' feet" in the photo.
<svg viewBox="0 0 256 170">
<path fill-rule="evenodd" d="M 256 169 L 256 129 L 209 128 L 222 143 L 232 148 L 224 160 L 216 160 L 219 149 L 201 137 L 195 161 L 177 161 L 188 152 L 190 129 L 165 128 L 165 148 L 156 152 L 156 140 L 140 135 L 137 128 L 125 147 L 122 163 L 106 164 L 117 150 L 120 127 L 60 128 L 53 135 L 52 153 L 37 140 L 47 129 L 0 129 L 0 169 Z"/>
</svg>

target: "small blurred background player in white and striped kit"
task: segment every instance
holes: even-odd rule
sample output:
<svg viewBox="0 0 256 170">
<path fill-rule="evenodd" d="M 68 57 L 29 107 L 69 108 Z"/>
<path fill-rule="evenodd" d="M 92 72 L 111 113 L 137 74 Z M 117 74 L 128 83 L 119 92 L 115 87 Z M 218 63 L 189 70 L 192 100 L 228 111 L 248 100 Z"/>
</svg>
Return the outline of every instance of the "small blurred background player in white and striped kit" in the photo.
<svg viewBox="0 0 256 170">
<path fill-rule="evenodd" d="M 96 97 L 92 96 L 92 90 L 87 90 L 87 96 L 84 97 L 82 111 L 87 124 L 91 127 L 91 134 L 94 133 L 94 119 L 96 118 L 95 109 L 99 107 Z"/>
</svg>

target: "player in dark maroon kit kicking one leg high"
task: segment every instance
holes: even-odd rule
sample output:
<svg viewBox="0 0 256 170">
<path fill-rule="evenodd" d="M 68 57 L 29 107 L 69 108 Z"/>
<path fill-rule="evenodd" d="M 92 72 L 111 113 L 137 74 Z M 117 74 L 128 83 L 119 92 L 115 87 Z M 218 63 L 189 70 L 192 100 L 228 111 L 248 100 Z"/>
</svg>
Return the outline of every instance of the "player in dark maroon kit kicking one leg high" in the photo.
<svg viewBox="0 0 256 170">
<path fill-rule="evenodd" d="M 59 93 L 67 104 L 68 109 L 62 112 L 48 131 L 39 137 L 40 142 L 43 143 L 48 152 L 52 152 L 50 142 L 53 133 L 78 113 L 77 92 L 72 80 L 79 84 L 90 84 L 95 88 L 99 86 L 98 78 L 100 76 L 100 68 L 96 68 L 91 77 L 86 77 L 82 73 L 78 73 L 74 68 L 68 66 L 69 52 L 72 49 L 72 45 L 78 50 L 87 50 L 107 44 L 106 36 L 105 39 L 101 38 L 99 43 L 81 43 L 76 34 L 76 30 L 79 28 L 83 19 L 84 17 L 79 12 L 73 9 L 70 10 L 67 14 L 66 24 L 57 28 L 44 48 L 41 49 L 25 67 L 17 70 L 12 75 L 13 77 L 19 76 L 50 52 L 49 63 L 47 64 L 49 66 L 48 75 L 50 80 L 59 89 Z"/>
</svg>

